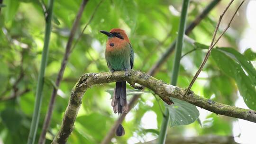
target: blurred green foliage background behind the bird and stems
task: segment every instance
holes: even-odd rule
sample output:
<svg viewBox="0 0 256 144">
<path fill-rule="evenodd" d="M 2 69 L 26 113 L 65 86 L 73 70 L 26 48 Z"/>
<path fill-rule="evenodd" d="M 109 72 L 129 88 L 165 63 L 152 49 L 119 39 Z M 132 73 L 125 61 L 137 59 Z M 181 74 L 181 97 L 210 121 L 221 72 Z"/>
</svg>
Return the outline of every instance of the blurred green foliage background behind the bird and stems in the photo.
<svg viewBox="0 0 256 144">
<path fill-rule="evenodd" d="M 43 1 L 47 3 L 47 0 Z M 74 41 L 100 1 L 89 0 L 87 3 Z M 210 1 L 191 0 L 187 23 L 199 15 Z M 235 0 L 230 7 L 219 31 L 227 25 L 239 1 Z M 70 29 L 81 2 L 82 0 L 55 0 L 36 142 L 64 56 Z M 189 35 L 196 43 L 186 41 L 183 54 L 192 49 L 196 50 L 184 56 L 181 61 L 177 84 L 179 87 L 187 87 L 200 66 L 206 52 L 205 45 L 210 45 L 216 21 L 228 2 L 229 0 L 220 0 L 219 5 Z M 250 49 L 248 45 L 240 43 L 245 29 L 249 27 L 245 17 L 247 4 L 248 2 L 239 10 L 239 15 L 235 17 L 230 29 L 218 44 L 219 47 L 229 49 L 220 48 L 213 51 L 192 90 L 201 96 L 228 105 L 235 105 L 236 101 L 243 97 L 247 106 L 256 110 L 256 47 Z M 107 38 L 98 31 L 109 31 L 114 27 L 125 29 L 135 52 L 134 69 L 147 72 L 176 38 L 181 5 L 182 0 L 103 0 L 68 60 L 58 90 L 51 125 L 46 134 L 47 144 L 60 128 L 70 91 L 79 77 L 87 72 L 109 71 L 104 59 Z M 3 0 L 0 11 L 0 144 L 27 142 L 44 30 L 45 16 L 38 0 Z M 163 63 L 155 75 L 157 79 L 170 82 L 173 59 L 174 54 Z M 69 144 L 99 144 L 108 133 L 118 118 L 111 108 L 111 96 L 106 92 L 113 87 L 114 83 L 101 84 L 86 91 L 75 129 L 68 140 Z M 113 143 L 134 144 L 157 138 L 164 103 L 158 97 L 154 97 L 150 90 L 146 91 L 149 92 L 142 94 L 123 123 L 126 134 L 113 138 Z M 244 103 L 241 99 L 240 102 Z M 243 134 L 241 130 L 235 132 L 241 129 L 237 119 L 198 109 L 201 114 L 199 120 L 187 126 L 171 127 L 168 135 L 233 135 L 239 141 L 239 136 Z"/>
</svg>

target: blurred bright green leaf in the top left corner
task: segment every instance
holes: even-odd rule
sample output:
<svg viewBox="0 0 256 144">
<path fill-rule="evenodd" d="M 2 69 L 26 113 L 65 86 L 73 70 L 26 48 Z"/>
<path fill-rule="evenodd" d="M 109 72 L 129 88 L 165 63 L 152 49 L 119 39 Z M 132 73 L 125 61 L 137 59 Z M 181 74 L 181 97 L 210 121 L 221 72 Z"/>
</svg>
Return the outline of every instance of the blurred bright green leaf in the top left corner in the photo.
<svg viewBox="0 0 256 144">
<path fill-rule="evenodd" d="M 3 1 L 4 1 L 4 4 L 6 5 L 6 8 L 4 9 L 5 20 L 8 22 L 15 16 L 18 10 L 19 1 L 18 0 L 3 0 Z"/>
</svg>

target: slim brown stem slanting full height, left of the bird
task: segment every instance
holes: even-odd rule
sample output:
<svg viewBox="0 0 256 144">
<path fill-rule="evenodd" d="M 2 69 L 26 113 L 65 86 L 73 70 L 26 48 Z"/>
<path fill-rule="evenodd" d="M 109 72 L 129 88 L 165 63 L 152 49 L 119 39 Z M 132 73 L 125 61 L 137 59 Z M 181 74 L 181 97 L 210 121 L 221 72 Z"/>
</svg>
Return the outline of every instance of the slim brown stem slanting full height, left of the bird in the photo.
<svg viewBox="0 0 256 144">
<path fill-rule="evenodd" d="M 69 39 L 68 39 L 68 42 L 67 42 L 67 45 L 66 45 L 64 58 L 63 58 L 62 63 L 61 63 L 61 68 L 60 68 L 60 71 L 58 73 L 57 79 L 55 81 L 56 87 L 59 87 L 60 82 L 63 78 L 63 73 L 64 73 L 64 70 L 65 70 L 66 64 L 68 62 L 69 55 L 71 53 L 71 46 L 72 46 L 73 38 L 74 38 L 74 35 L 75 35 L 75 32 L 76 32 L 76 29 L 79 26 L 79 22 L 80 22 L 80 19 L 82 17 L 82 12 L 83 12 L 83 9 L 84 9 L 85 5 L 87 4 L 87 2 L 88 2 L 88 0 L 82 0 L 82 4 L 81 4 L 80 9 L 79 9 L 79 11 L 76 15 L 75 20 L 74 20 L 74 23 L 73 23 L 73 26 L 72 26 L 72 29 L 71 29 L 71 32 L 70 32 L 70 35 L 69 35 Z M 50 125 L 56 95 L 57 95 L 57 89 L 54 87 L 53 91 L 52 91 L 51 99 L 50 99 L 50 102 L 49 102 L 49 108 L 48 108 L 48 111 L 46 113 L 44 125 L 43 125 L 43 128 L 42 128 L 42 132 L 41 132 L 38 144 L 44 144 L 45 143 L 46 132 L 47 132 L 47 129 Z"/>
</svg>

